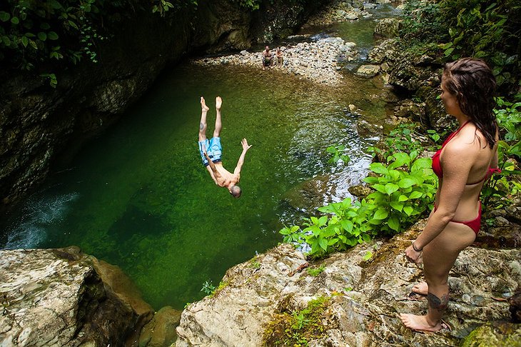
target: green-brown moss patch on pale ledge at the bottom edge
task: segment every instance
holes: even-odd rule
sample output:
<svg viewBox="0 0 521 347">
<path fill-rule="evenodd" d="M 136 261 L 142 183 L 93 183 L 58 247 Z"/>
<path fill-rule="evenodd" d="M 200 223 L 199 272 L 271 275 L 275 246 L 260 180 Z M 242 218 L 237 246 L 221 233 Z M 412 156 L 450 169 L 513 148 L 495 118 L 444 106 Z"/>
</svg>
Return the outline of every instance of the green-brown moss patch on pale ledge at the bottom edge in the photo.
<svg viewBox="0 0 521 347">
<path fill-rule="evenodd" d="M 323 321 L 330 297 L 319 296 L 300 311 L 276 313 L 264 331 L 262 346 L 308 346 L 309 341 L 325 336 Z"/>
</svg>

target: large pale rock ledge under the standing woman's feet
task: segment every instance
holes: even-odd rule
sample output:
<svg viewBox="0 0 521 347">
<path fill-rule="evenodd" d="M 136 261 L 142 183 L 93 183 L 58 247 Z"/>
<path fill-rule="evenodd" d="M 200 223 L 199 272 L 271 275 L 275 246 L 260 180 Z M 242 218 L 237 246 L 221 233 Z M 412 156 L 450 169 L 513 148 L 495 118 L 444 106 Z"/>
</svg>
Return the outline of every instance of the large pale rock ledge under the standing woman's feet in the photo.
<svg viewBox="0 0 521 347">
<path fill-rule="evenodd" d="M 329 298 L 322 320 L 327 325 L 309 346 L 458 346 L 478 326 L 509 320 L 505 298 L 521 281 L 521 251 L 469 247 L 450 272 L 445 321 L 452 331 L 420 334 L 403 326 L 398 313 L 423 314 L 427 308 L 426 298 L 410 291 L 422 271 L 404 256 L 423 226 L 425 221 L 388 243 L 373 241 L 311 265 L 283 244 L 235 266 L 221 291 L 183 311 L 176 346 L 261 346 L 266 328 L 277 330 L 276 316 L 298 313 L 320 296 Z M 308 265 L 323 271 L 311 276 Z M 279 331 L 285 329 L 295 332 L 291 326 Z"/>
</svg>

